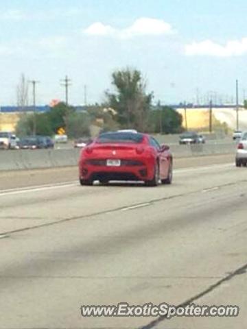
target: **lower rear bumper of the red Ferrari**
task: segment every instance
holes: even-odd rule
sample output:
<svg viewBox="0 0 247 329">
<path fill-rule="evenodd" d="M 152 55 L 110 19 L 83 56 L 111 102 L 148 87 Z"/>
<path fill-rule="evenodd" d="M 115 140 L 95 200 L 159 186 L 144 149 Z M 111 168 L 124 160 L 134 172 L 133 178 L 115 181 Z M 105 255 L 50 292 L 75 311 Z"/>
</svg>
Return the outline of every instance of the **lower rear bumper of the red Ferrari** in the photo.
<svg viewBox="0 0 247 329">
<path fill-rule="evenodd" d="M 96 166 L 80 162 L 79 175 L 83 180 L 152 180 L 154 176 L 153 161 L 142 161 L 143 165 L 137 166 Z"/>
</svg>

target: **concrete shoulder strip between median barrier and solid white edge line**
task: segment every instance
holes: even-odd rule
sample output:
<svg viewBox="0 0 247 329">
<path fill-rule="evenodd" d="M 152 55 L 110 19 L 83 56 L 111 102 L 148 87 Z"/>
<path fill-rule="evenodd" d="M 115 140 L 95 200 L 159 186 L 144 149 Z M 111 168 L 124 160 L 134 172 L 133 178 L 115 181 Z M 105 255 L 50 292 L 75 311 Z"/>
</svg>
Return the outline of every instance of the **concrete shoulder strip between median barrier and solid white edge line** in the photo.
<svg viewBox="0 0 247 329">
<path fill-rule="evenodd" d="M 179 169 L 209 164 L 229 163 L 234 162 L 234 160 L 234 154 L 175 158 L 174 168 Z M 0 171 L 0 191 L 7 188 L 58 184 L 61 182 L 73 182 L 75 180 L 78 180 L 78 167 Z"/>
</svg>

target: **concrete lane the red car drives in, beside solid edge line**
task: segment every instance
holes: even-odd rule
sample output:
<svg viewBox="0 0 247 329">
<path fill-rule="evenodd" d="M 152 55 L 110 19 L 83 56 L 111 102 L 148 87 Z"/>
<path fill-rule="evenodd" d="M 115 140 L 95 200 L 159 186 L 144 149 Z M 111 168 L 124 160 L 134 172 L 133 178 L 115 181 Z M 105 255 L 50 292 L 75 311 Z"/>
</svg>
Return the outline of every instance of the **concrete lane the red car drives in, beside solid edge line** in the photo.
<svg viewBox="0 0 247 329">
<path fill-rule="evenodd" d="M 207 178 L 207 179 L 206 179 Z M 80 186 L 78 183 L 0 193 L 0 233 L 70 221 L 147 202 L 201 193 L 246 180 L 246 168 L 231 164 L 176 169 L 174 183 L 156 188 L 143 184 Z"/>
</svg>

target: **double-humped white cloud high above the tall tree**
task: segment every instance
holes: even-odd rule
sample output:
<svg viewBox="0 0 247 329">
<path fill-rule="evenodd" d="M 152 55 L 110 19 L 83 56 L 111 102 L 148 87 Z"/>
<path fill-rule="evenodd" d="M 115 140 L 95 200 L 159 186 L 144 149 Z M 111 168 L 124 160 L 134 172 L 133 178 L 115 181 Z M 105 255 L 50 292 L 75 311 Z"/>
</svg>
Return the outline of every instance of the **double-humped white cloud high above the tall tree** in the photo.
<svg viewBox="0 0 247 329">
<path fill-rule="evenodd" d="M 113 36 L 115 38 L 134 38 L 137 36 L 162 36 L 172 34 L 174 31 L 169 23 L 161 19 L 149 19 L 142 17 L 134 21 L 132 25 L 124 29 L 117 29 L 103 23 L 93 23 L 84 34 L 89 36 Z"/>
</svg>

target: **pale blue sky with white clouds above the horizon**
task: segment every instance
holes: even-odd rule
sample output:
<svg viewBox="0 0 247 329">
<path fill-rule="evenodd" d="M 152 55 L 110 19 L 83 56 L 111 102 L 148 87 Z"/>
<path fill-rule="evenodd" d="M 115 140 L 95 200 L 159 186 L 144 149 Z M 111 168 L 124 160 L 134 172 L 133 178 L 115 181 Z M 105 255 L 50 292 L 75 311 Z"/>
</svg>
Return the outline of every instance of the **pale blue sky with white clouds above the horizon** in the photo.
<svg viewBox="0 0 247 329">
<path fill-rule="evenodd" d="M 246 14 L 245 0 L 0 0 L 0 106 L 16 104 L 21 73 L 39 81 L 40 105 L 64 100 L 65 75 L 71 104 L 84 104 L 85 85 L 101 102 L 127 66 L 154 101 L 231 101 L 237 79 L 242 99 Z"/>
</svg>

